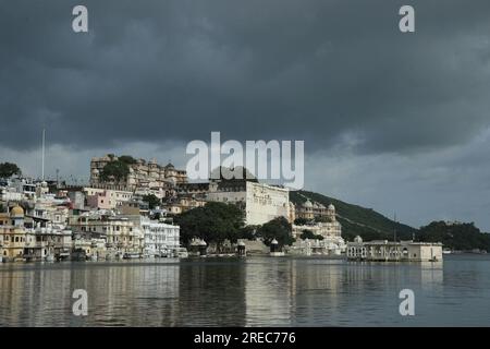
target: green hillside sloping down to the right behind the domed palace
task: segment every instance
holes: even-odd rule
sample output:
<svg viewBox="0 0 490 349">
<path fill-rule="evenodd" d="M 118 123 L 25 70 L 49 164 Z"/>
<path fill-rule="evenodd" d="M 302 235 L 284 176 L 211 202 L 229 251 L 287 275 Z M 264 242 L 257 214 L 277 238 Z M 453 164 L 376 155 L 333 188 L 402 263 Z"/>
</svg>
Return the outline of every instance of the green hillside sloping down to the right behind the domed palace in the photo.
<svg viewBox="0 0 490 349">
<path fill-rule="evenodd" d="M 397 239 L 411 240 L 413 234 L 418 232 L 417 229 L 395 222 L 372 208 L 347 204 L 343 201 L 308 191 L 290 192 L 290 200 L 294 204 L 302 204 L 307 198 L 324 206 L 328 206 L 330 203 L 335 206 L 336 218 L 342 225 L 342 237 L 346 241 L 352 241 L 356 236 L 360 236 L 366 241 L 393 240 L 395 230 Z"/>
</svg>

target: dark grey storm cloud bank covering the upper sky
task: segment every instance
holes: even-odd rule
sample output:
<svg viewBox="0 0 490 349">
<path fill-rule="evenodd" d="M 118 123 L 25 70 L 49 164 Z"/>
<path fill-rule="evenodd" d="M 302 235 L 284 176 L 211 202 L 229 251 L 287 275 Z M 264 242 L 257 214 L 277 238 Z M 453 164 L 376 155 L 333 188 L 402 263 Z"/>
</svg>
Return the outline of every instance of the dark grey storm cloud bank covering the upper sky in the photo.
<svg viewBox="0 0 490 349">
<path fill-rule="evenodd" d="M 415 35 L 397 1 L 86 1 L 87 35 L 74 4 L 0 2 L 1 145 L 45 125 L 85 147 L 218 130 L 404 153 L 489 124 L 488 1 L 413 1 Z"/>
</svg>

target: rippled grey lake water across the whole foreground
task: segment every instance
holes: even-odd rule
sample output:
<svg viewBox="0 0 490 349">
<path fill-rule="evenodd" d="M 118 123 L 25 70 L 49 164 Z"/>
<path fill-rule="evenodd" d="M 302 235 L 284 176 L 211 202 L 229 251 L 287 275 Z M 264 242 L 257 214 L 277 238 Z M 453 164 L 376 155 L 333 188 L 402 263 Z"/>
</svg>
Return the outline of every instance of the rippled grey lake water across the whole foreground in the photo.
<svg viewBox="0 0 490 349">
<path fill-rule="evenodd" d="M 489 326 L 490 256 L 0 264 L 0 326 Z M 85 289 L 88 315 L 74 316 Z M 415 292 L 415 315 L 399 292 Z"/>
</svg>

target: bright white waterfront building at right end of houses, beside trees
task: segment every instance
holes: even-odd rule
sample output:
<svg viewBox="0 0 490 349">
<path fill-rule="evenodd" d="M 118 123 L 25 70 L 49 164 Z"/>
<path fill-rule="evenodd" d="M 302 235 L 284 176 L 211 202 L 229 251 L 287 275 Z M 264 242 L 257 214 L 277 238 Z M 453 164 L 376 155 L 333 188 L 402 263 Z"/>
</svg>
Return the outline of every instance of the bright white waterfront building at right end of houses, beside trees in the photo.
<svg viewBox="0 0 490 349">
<path fill-rule="evenodd" d="M 140 218 L 140 229 L 144 236 L 144 255 L 171 256 L 180 248 L 180 227 Z"/>
</svg>

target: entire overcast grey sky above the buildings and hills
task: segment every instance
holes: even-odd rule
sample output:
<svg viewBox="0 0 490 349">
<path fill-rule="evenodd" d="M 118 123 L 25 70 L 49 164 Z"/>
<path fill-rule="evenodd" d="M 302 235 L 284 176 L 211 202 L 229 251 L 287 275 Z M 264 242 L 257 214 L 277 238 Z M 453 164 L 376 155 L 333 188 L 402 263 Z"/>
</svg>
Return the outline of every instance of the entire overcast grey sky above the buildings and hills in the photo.
<svg viewBox="0 0 490 349">
<path fill-rule="evenodd" d="M 0 161 L 39 176 L 42 128 L 66 179 L 107 153 L 185 167 L 211 131 L 304 140 L 306 189 L 490 231 L 489 17 L 488 0 L 0 0 Z"/>
</svg>

